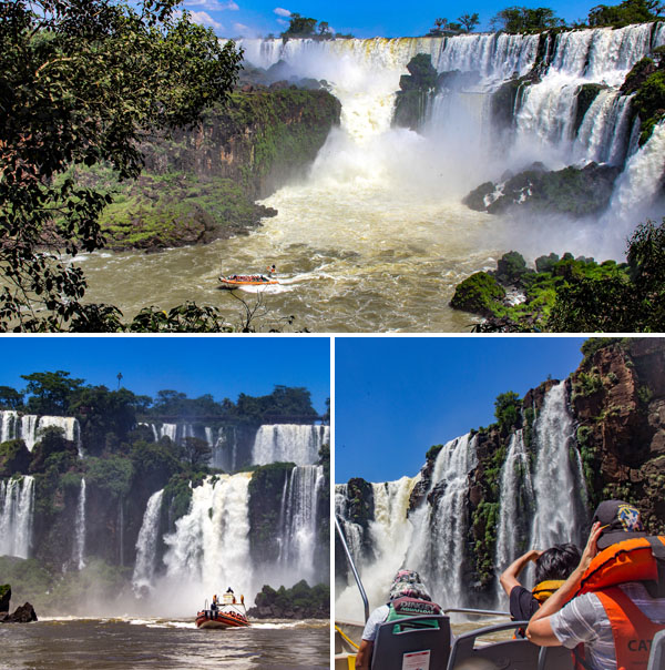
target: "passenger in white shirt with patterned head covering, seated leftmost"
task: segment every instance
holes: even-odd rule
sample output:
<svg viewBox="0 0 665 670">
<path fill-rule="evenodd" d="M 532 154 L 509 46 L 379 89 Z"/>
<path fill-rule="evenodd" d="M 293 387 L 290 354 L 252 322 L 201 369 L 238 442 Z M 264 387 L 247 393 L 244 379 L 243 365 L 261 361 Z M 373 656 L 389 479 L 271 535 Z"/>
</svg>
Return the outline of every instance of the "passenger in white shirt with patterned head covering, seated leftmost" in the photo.
<svg viewBox="0 0 665 670">
<path fill-rule="evenodd" d="M 369 619 L 367 619 L 365 630 L 362 631 L 362 641 L 356 654 L 356 670 L 369 669 L 374 643 L 381 623 L 408 616 L 440 613 L 441 608 L 436 602 L 432 602 L 431 597 L 420 581 L 418 572 L 413 570 L 399 570 L 392 580 L 388 603 L 375 609 L 369 615 Z"/>
</svg>

